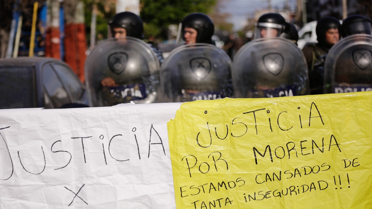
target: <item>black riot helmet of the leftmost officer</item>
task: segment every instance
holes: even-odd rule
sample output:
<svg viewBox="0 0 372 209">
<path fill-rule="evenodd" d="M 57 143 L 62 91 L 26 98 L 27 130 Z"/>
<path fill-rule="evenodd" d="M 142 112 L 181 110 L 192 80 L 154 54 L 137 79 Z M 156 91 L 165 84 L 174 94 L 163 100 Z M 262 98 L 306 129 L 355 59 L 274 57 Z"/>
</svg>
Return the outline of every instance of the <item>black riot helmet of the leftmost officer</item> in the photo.
<svg viewBox="0 0 372 209">
<path fill-rule="evenodd" d="M 143 22 L 141 17 L 131 12 L 121 12 L 116 14 L 109 21 L 111 33 L 114 34 L 113 28 L 125 28 L 126 36 L 142 38 Z M 114 35 L 113 35 L 114 36 Z"/>
</svg>

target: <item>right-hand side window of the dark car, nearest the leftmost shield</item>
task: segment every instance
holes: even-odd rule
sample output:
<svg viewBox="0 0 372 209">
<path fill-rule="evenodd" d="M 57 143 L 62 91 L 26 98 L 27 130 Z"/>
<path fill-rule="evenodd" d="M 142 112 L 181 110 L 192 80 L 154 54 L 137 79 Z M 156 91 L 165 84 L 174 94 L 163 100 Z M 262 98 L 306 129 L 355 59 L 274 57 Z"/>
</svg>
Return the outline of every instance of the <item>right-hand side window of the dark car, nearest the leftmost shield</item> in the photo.
<svg viewBox="0 0 372 209">
<path fill-rule="evenodd" d="M 74 97 L 75 100 L 79 100 L 81 96 L 83 96 L 84 89 L 74 72 L 60 64 L 54 63 L 52 65 L 64 83 L 66 90 L 71 93 L 71 96 Z"/>
</svg>

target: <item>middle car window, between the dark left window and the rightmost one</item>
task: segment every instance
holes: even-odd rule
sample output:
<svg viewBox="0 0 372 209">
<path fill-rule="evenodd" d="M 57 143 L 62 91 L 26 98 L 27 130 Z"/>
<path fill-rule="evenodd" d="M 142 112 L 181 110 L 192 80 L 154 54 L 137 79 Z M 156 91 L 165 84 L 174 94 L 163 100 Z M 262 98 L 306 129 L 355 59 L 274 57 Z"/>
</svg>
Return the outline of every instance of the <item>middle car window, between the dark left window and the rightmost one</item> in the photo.
<svg viewBox="0 0 372 209">
<path fill-rule="evenodd" d="M 60 108 L 64 104 L 71 103 L 67 91 L 50 64 L 44 65 L 42 76 L 44 89 L 47 91 L 54 108 Z"/>
</svg>

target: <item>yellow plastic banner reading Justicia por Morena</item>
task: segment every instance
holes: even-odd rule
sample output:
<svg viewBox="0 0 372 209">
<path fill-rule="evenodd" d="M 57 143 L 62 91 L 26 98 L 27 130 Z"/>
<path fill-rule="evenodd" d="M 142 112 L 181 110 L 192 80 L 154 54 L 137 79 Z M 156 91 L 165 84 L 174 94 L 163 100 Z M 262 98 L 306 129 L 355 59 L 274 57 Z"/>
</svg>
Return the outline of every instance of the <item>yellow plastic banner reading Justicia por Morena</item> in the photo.
<svg viewBox="0 0 372 209">
<path fill-rule="evenodd" d="M 372 93 L 183 103 L 177 208 L 372 207 Z"/>
</svg>

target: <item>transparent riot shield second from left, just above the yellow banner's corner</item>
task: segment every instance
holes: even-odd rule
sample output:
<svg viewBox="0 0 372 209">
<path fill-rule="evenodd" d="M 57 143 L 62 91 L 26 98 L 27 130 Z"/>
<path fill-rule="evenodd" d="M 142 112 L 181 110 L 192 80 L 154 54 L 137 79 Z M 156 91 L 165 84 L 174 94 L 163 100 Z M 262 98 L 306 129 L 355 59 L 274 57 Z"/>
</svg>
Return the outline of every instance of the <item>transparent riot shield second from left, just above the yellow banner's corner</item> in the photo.
<svg viewBox="0 0 372 209">
<path fill-rule="evenodd" d="M 170 52 L 160 71 L 163 102 L 231 97 L 231 60 L 214 45 L 188 44 Z"/>
</svg>

